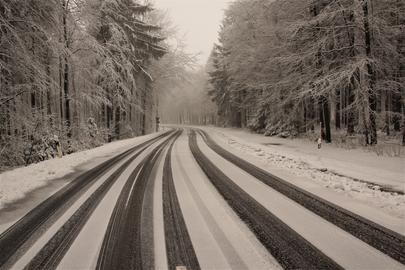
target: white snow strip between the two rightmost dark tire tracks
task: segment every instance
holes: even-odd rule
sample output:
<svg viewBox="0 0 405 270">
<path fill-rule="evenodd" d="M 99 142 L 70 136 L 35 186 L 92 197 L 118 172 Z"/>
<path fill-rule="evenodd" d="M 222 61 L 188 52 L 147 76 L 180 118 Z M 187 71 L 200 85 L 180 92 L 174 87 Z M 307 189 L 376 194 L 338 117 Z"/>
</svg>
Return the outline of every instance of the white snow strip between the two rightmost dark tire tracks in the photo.
<svg viewBox="0 0 405 270">
<path fill-rule="evenodd" d="M 403 269 L 399 262 L 257 181 L 216 154 L 200 136 L 197 143 L 204 155 L 235 184 L 344 269 Z"/>
</svg>

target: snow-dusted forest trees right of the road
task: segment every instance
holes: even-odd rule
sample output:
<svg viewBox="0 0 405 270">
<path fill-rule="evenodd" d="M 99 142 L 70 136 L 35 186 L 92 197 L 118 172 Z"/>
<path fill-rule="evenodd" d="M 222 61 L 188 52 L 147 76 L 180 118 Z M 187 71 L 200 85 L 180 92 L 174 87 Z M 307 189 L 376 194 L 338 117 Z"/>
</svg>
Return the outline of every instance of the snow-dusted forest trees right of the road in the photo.
<svg viewBox="0 0 405 270">
<path fill-rule="evenodd" d="M 220 121 L 405 144 L 404 14 L 400 0 L 233 2 L 209 63 Z"/>
</svg>

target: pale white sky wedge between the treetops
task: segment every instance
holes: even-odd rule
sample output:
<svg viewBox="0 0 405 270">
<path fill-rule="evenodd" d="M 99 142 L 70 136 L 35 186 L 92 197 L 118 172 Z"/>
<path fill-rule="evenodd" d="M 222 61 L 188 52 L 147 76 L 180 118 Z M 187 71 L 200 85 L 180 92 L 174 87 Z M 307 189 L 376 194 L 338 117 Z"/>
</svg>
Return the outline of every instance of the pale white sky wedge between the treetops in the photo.
<svg viewBox="0 0 405 270">
<path fill-rule="evenodd" d="M 230 0 L 154 0 L 155 7 L 169 12 L 180 34 L 185 34 L 188 52 L 201 53 L 205 64 L 217 41 L 224 9 Z"/>
</svg>

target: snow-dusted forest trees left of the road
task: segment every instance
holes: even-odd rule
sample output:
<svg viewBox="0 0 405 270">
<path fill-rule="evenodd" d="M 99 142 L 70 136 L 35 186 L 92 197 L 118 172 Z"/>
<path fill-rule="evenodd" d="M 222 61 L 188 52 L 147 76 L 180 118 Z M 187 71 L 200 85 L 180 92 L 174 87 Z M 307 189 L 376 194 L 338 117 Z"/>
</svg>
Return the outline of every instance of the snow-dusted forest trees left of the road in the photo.
<svg viewBox="0 0 405 270">
<path fill-rule="evenodd" d="M 152 132 L 157 18 L 134 0 L 0 0 L 0 167 Z"/>
</svg>

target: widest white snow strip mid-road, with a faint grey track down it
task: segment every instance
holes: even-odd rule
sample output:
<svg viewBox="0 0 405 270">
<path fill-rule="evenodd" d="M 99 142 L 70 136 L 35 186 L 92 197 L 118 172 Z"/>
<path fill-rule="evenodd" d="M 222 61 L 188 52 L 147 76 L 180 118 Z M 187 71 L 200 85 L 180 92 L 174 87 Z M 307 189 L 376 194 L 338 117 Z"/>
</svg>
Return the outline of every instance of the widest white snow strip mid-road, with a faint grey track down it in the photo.
<svg viewBox="0 0 405 270">
<path fill-rule="evenodd" d="M 202 269 L 281 269 L 211 184 L 185 133 L 172 153 L 173 180 Z"/>
</svg>

